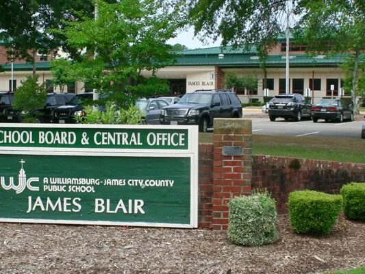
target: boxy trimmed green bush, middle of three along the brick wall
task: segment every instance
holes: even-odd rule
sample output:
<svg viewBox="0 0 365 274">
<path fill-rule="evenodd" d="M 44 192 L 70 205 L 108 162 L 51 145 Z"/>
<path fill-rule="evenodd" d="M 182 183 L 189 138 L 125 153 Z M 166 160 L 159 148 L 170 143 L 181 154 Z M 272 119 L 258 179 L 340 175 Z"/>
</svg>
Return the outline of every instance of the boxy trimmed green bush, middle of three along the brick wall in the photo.
<svg viewBox="0 0 365 274">
<path fill-rule="evenodd" d="M 329 234 L 341 209 L 341 195 L 314 190 L 299 190 L 289 194 L 290 223 L 299 233 Z"/>
</svg>

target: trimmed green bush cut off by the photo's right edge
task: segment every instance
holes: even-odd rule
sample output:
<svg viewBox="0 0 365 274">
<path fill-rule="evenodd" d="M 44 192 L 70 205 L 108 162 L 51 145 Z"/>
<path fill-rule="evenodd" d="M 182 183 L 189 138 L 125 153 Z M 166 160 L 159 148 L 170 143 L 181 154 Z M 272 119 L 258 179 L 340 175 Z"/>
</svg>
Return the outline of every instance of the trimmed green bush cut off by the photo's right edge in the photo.
<svg viewBox="0 0 365 274">
<path fill-rule="evenodd" d="M 365 221 L 365 182 L 345 184 L 340 193 L 344 199 L 344 214 L 347 218 Z"/>
</svg>

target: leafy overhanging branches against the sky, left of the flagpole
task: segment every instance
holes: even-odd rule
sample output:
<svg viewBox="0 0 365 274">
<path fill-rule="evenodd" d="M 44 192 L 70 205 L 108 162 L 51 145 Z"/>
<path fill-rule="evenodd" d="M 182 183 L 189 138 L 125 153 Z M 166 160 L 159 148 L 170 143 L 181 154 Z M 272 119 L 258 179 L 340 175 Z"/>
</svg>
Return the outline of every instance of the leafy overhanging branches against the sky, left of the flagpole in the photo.
<svg viewBox="0 0 365 274">
<path fill-rule="evenodd" d="M 190 0 L 189 15 L 195 34 L 216 40 L 222 45 L 251 47 L 257 45 L 266 55 L 282 32 L 286 0 Z"/>
</svg>

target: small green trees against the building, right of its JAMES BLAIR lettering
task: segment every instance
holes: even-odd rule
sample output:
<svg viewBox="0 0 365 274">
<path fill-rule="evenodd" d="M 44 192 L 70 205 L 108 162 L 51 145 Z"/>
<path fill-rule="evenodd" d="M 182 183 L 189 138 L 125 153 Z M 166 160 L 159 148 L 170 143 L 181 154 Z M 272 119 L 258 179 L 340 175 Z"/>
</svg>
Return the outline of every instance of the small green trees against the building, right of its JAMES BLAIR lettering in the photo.
<svg viewBox="0 0 365 274">
<path fill-rule="evenodd" d="M 238 76 L 236 73 L 226 73 L 224 86 L 234 90 L 234 92 L 238 89 L 248 90 L 249 94 L 251 94 L 254 90 L 257 90 L 257 76 L 251 74 Z"/>
</svg>

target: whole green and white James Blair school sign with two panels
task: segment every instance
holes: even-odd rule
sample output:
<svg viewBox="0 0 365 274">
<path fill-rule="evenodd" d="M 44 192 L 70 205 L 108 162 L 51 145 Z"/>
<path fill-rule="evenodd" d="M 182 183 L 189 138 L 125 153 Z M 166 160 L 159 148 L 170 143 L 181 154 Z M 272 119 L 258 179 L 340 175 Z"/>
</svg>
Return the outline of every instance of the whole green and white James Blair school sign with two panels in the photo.
<svg viewBox="0 0 365 274">
<path fill-rule="evenodd" d="M 0 221 L 197 227 L 197 128 L 0 129 Z"/>
</svg>

